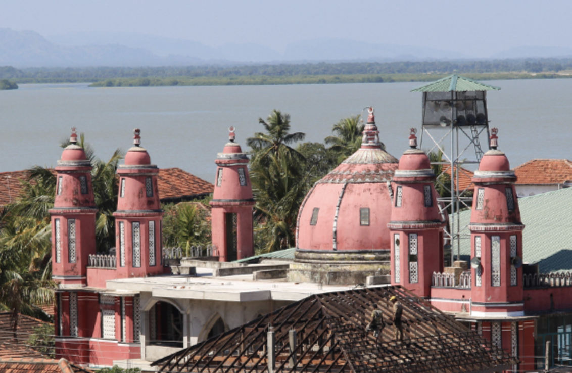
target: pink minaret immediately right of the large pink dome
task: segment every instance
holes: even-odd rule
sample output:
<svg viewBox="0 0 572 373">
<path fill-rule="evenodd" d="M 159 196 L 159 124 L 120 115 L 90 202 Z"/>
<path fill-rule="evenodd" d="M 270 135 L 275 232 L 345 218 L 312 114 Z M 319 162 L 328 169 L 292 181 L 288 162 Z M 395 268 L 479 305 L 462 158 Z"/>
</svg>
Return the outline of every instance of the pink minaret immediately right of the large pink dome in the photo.
<svg viewBox="0 0 572 373">
<path fill-rule="evenodd" d="M 391 284 L 403 285 L 420 297 L 430 297 L 433 272 L 443 271 L 444 216 L 439 212 L 435 173 L 429 157 L 417 149 L 411 129 L 411 149 L 399 160 L 393 177 L 391 221 Z"/>
</svg>

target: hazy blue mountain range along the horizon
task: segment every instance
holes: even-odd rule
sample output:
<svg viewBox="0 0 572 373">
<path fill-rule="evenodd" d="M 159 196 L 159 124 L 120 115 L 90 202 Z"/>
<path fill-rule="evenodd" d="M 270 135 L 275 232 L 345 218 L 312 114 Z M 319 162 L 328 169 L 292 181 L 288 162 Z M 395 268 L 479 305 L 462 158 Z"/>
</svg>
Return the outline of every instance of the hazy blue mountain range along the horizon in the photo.
<svg viewBox="0 0 572 373">
<path fill-rule="evenodd" d="M 570 48 L 517 47 L 493 58 L 558 57 Z M 211 47 L 200 42 L 134 33 L 73 33 L 43 37 L 34 31 L 0 28 L 0 66 L 169 66 L 259 62 L 426 61 L 467 59 L 455 51 L 404 45 L 318 39 L 288 45 L 284 53 L 245 44 Z"/>
</svg>

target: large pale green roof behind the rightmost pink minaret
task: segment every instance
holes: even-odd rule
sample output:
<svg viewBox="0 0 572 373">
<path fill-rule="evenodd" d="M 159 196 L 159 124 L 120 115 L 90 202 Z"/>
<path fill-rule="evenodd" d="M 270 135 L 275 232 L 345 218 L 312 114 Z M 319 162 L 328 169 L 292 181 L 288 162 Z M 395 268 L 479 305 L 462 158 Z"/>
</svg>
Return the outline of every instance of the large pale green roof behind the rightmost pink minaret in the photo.
<svg viewBox="0 0 572 373">
<path fill-rule="evenodd" d="M 522 260 L 538 263 L 541 273 L 572 270 L 572 188 L 518 199 L 522 223 Z M 460 213 L 466 227 L 471 211 Z M 466 231 L 468 232 L 468 229 Z M 461 240 L 461 255 L 470 255 L 470 240 Z M 456 252 L 455 252 L 456 255 Z"/>
</svg>

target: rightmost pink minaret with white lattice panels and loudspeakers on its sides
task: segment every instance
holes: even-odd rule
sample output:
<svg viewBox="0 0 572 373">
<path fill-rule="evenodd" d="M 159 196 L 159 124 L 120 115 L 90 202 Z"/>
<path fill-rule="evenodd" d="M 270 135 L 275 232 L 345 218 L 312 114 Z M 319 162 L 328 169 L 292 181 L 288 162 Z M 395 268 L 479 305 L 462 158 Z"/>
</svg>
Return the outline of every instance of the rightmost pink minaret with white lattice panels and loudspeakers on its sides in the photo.
<svg viewBox="0 0 572 373">
<path fill-rule="evenodd" d="M 522 316 L 522 230 L 514 183 L 505 153 L 496 149 L 496 133 L 491 130 L 490 150 L 480 161 L 472 181 L 471 316 Z"/>
</svg>

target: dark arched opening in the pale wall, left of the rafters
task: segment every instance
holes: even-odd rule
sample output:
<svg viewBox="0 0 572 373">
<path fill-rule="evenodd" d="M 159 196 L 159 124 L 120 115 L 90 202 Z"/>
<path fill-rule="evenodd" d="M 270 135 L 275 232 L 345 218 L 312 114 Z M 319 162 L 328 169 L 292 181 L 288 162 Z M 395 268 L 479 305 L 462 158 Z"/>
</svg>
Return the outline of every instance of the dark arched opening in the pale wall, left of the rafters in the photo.
<svg viewBox="0 0 572 373">
<path fill-rule="evenodd" d="M 174 305 L 158 301 L 149 310 L 149 344 L 183 347 L 183 318 Z"/>
</svg>

